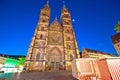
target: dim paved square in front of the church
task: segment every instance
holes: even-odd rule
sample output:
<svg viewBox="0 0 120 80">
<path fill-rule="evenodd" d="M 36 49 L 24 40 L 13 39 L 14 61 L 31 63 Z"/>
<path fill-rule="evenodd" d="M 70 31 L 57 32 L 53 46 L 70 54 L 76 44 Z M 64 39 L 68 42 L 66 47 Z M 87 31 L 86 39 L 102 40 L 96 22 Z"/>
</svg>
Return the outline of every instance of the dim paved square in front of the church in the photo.
<svg viewBox="0 0 120 80">
<path fill-rule="evenodd" d="M 4 74 L 9 75 L 9 74 Z M 72 77 L 71 72 L 22 72 L 12 74 L 11 77 L 0 78 L 0 80 L 77 80 Z"/>
</svg>

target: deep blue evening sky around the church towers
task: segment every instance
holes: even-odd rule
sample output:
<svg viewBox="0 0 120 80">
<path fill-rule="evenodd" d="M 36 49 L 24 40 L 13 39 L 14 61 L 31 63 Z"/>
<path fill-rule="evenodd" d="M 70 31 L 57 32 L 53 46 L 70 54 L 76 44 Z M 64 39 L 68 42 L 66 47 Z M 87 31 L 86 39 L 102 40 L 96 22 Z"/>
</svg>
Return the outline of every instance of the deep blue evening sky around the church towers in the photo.
<svg viewBox="0 0 120 80">
<path fill-rule="evenodd" d="M 26 55 L 40 10 L 47 0 L 0 0 L 0 53 Z M 60 21 L 62 0 L 50 0 L 51 19 Z M 89 48 L 117 55 L 111 41 L 120 20 L 120 0 L 65 0 L 79 50 Z"/>
</svg>

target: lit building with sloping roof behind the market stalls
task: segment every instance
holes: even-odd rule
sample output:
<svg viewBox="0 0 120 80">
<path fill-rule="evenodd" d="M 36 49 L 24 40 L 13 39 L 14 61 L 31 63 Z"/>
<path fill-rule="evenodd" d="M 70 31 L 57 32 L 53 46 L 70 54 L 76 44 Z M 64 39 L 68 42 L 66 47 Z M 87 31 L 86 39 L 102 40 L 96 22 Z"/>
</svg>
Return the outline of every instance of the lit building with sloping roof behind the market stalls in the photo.
<svg viewBox="0 0 120 80">
<path fill-rule="evenodd" d="M 81 57 L 82 58 L 101 59 L 101 58 L 109 58 L 109 57 L 115 57 L 115 56 L 108 54 L 108 53 L 101 52 L 101 51 L 83 48 Z"/>
</svg>

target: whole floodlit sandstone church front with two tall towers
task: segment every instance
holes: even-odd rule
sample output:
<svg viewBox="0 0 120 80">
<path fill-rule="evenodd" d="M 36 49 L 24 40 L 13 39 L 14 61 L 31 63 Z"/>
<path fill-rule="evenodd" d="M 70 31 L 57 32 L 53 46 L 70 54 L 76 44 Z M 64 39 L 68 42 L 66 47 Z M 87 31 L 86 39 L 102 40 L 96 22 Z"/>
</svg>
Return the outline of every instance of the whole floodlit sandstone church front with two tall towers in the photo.
<svg viewBox="0 0 120 80">
<path fill-rule="evenodd" d="M 71 71 L 71 61 L 80 57 L 67 8 L 63 6 L 61 23 L 57 19 L 52 24 L 49 21 L 50 7 L 47 3 L 40 12 L 24 71 Z"/>
</svg>

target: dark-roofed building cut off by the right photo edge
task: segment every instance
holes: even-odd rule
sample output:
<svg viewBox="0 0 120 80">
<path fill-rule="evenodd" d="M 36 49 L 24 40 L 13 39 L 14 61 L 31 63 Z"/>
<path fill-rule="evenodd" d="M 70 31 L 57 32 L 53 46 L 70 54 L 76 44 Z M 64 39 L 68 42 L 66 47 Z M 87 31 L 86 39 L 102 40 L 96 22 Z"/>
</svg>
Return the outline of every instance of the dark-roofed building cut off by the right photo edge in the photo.
<svg viewBox="0 0 120 80">
<path fill-rule="evenodd" d="M 118 55 L 120 56 L 120 33 L 117 33 L 112 36 L 112 43 L 113 43 Z"/>
</svg>

